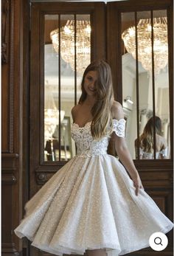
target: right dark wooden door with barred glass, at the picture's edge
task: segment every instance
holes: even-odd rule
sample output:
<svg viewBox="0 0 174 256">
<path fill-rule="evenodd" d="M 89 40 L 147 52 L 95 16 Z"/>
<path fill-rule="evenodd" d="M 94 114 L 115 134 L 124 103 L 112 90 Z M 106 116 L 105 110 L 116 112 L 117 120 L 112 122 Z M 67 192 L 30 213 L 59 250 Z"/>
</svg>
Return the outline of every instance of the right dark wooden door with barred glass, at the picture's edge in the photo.
<svg viewBox="0 0 174 256">
<path fill-rule="evenodd" d="M 168 49 L 163 57 L 166 63 L 157 66 L 161 58 L 156 51 L 156 39 L 160 38 L 160 29 L 156 32 L 157 22 L 165 19 L 167 33 L 164 38 Z M 141 20 L 141 21 L 140 21 Z M 151 21 L 150 52 L 148 66 L 141 59 L 142 41 L 139 32 L 140 22 Z M 153 22 L 152 22 L 153 21 Z M 107 4 L 107 59 L 111 64 L 114 92 L 116 99 L 122 103 L 127 120 L 126 139 L 129 151 L 136 165 L 142 184 L 147 193 L 156 201 L 162 212 L 173 221 L 173 1 L 115 1 Z M 138 27 L 139 26 L 139 27 Z M 128 34 L 128 30 L 130 33 Z M 133 31 L 135 34 L 133 34 Z M 132 34 L 131 34 L 132 32 Z M 127 33 L 127 34 L 126 34 Z M 132 52 L 125 47 L 124 35 L 134 36 L 130 44 L 134 44 Z M 135 50 L 135 52 L 133 52 Z M 133 54 L 134 58 L 133 58 Z M 166 55 L 166 56 L 164 56 Z M 146 56 L 147 58 L 147 52 Z M 161 68 L 161 69 L 160 69 Z M 164 79 L 164 80 L 163 80 Z M 146 94 L 148 91 L 148 95 Z M 166 100 L 160 97 L 166 91 Z M 161 100 L 160 100 L 161 99 Z M 127 102 L 130 100 L 130 103 Z M 167 109 L 164 121 L 164 108 Z M 163 111 L 163 113 L 161 112 Z M 167 159 L 140 159 L 136 157 L 134 141 L 142 134 L 144 119 L 158 116 L 163 123 L 163 132 L 167 127 L 166 141 L 170 148 Z M 170 125 L 169 125 L 170 123 Z M 144 124 L 145 125 L 145 124 Z M 145 126 L 144 126 L 145 127 Z M 153 131 L 156 131 L 155 129 Z M 163 133 L 164 134 L 164 133 Z M 156 135 L 156 134 L 155 134 Z M 153 136 L 156 138 L 156 136 Z M 156 145 L 156 142 L 154 142 Z M 173 255 L 173 232 L 167 233 L 169 244 L 160 255 Z M 142 249 L 128 255 L 156 255 L 152 249 Z"/>
</svg>

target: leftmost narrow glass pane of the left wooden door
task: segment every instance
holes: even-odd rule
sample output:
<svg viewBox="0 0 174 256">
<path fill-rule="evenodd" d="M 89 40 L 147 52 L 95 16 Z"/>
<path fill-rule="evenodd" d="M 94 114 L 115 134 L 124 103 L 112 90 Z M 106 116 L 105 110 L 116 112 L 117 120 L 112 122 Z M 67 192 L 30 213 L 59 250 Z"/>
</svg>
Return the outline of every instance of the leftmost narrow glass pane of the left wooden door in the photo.
<svg viewBox="0 0 174 256">
<path fill-rule="evenodd" d="M 58 125 L 58 52 L 55 52 L 50 32 L 58 27 L 58 15 L 45 15 L 44 38 L 44 159 L 55 161 L 55 128 Z M 57 95 L 58 97 L 58 95 Z M 57 135 L 59 136 L 59 134 Z"/>
</svg>

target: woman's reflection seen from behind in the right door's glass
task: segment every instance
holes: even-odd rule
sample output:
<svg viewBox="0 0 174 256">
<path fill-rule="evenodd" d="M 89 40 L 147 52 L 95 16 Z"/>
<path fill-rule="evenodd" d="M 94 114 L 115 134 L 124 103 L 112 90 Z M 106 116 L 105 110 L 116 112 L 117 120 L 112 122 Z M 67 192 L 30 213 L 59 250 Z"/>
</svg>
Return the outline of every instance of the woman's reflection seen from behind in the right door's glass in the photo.
<svg viewBox="0 0 174 256">
<path fill-rule="evenodd" d="M 155 117 L 156 125 L 156 159 L 167 159 L 167 141 L 162 136 L 161 119 Z M 139 137 L 139 159 L 154 159 L 153 154 L 153 117 L 147 121 L 142 135 Z M 136 159 L 138 158 L 138 139 L 135 140 Z"/>
</svg>

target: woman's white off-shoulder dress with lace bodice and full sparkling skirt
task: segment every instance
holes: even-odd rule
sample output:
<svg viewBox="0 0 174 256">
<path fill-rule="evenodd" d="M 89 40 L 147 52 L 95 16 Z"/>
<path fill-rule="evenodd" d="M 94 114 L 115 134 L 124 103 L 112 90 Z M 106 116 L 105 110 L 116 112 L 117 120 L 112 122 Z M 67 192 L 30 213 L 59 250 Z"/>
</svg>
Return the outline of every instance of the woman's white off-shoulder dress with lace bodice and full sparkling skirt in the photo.
<svg viewBox="0 0 174 256">
<path fill-rule="evenodd" d="M 113 120 L 113 126 L 125 136 L 125 120 Z M 54 255 L 105 249 L 117 256 L 149 247 L 153 232 L 173 229 L 145 190 L 135 195 L 125 167 L 106 152 L 108 136 L 96 142 L 88 122 L 83 128 L 73 123 L 72 138 L 77 155 L 27 202 L 14 230 L 19 238 Z"/>
</svg>

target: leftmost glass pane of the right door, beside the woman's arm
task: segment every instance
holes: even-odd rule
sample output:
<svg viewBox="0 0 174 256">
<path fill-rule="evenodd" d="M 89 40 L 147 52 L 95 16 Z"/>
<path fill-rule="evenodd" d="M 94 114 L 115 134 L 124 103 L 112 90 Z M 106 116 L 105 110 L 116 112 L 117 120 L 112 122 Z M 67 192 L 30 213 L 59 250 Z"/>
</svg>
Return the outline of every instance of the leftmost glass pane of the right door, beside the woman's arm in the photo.
<svg viewBox="0 0 174 256">
<path fill-rule="evenodd" d="M 136 34 L 135 13 L 122 13 L 122 105 L 125 112 L 126 140 L 133 159 L 135 159 L 134 141 L 137 138 L 136 104 Z M 132 32 L 128 41 L 128 32 Z M 131 51 L 130 53 L 130 46 Z"/>
</svg>

